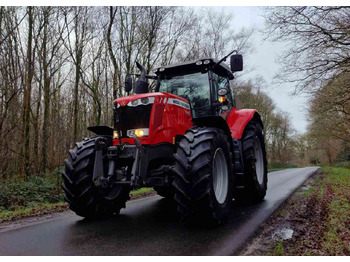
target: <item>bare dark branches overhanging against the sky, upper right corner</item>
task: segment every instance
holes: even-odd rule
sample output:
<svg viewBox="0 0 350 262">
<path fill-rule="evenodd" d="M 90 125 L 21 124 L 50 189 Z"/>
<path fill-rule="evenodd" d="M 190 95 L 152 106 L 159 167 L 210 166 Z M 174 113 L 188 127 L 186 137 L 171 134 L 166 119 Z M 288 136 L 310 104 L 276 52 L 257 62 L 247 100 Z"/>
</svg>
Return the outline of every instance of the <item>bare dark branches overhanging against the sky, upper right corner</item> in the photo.
<svg viewBox="0 0 350 262">
<path fill-rule="evenodd" d="M 350 68 L 350 7 L 291 6 L 265 10 L 266 35 L 287 41 L 280 57 L 280 83 L 296 83 L 296 91 L 315 91 Z"/>
</svg>

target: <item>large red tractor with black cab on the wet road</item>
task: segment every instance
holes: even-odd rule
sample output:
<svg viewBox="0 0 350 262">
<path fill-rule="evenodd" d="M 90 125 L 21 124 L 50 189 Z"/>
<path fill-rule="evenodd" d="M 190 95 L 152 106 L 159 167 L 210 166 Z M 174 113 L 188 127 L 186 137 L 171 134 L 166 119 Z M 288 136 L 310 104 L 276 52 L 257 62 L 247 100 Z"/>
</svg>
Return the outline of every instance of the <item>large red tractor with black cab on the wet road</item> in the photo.
<svg viewBox="0 0 350 262">
<path fill-rule="evenodd" d="M 233 199 L 263 200 L 263 123 L 256 110 L 235 108 L 229 80 L 243 58 L 231 55 L 229 69 L 228 56 L 160 67 L 152 76 L 137 63 L 135 95 L 114 101 L 114 128 L 89 127 L 96 136 L 76 143 L 64 161 L 70 209 L 83 217 L 118 214 L 132 188 L 153 187 L 176 201 L 182 217 L 221 223 Z M 147 79 L 156 80 L 155 92 Z"/>
</svg>

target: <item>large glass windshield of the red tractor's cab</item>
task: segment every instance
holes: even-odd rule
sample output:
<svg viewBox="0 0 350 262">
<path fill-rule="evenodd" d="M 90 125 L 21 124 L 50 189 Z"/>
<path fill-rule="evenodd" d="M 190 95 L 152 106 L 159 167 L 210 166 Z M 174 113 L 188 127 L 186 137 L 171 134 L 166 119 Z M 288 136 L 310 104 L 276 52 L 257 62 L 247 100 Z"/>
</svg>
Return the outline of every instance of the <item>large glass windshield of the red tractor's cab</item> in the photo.
<svg viewBox="0 0 350 262">
<path fill-rule="evenodd" d="M 208 73 L 173 76 L 160 81 L 159 92 L 167 92 L 187 99 L 192 107 L 192 116 L 211 114 Z"/>
</svg>

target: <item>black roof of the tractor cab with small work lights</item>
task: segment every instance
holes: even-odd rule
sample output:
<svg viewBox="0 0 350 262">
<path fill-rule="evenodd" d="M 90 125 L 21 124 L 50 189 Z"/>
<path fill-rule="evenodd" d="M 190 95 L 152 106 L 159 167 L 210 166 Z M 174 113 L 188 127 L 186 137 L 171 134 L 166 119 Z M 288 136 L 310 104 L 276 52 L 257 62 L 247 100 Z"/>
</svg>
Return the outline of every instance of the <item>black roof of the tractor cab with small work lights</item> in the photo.
<svg viewBox="0 0 350 262">
<path fill-rule="evenodd" d="M 202 64 L 198 64 L 198 62 L 202 62 Z M 206 64 L 204 64 L 204 61 Z M 178 63 L 168 66 L 161 66 L 156 68 L 153 72 L 156 75 L 184 75 L 194 72 L 202 71 L 203 67 L 210 67 L 218 75 L 228 76 L 230 79 L 233 79 L 233 74 L 230 68 L 224 63 L 220 63 L 216 65 L 219 60 L 215 58 L 202 58 L 194 61 Z"/>
</svg>

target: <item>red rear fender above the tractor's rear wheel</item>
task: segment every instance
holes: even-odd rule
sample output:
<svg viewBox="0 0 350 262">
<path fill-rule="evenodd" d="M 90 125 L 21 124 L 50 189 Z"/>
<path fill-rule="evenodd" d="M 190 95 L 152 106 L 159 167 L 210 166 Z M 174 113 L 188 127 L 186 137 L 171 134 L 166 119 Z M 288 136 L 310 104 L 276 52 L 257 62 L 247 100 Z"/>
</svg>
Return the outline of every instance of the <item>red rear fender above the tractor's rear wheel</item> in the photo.
<svg viewBox="0 0 350 262">
<path fill-rule="evenodd" d="M 244 129 L 252 119 L 256 120 L 262 128 L 260 114 L 255 109 L 235 109 L 233 108 L 227 117 L 227 125 L 231 131 L 232 138 L 241 139 Z"/>
</svg>

